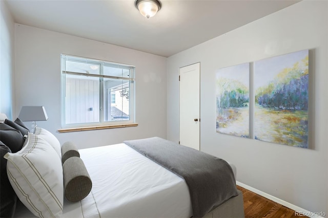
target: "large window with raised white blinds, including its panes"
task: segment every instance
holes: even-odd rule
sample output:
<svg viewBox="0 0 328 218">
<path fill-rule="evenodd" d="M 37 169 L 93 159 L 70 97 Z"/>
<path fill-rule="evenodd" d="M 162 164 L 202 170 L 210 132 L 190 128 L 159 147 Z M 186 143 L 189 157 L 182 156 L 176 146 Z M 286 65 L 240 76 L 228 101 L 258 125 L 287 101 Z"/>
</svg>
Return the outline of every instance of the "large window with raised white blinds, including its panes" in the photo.
<svg viewBox="0 0 328 218">
<path fill-rule="evenodd" d="M 61 55 L 62 127 L 134 122 L 135 67 Z"/>
</svg>

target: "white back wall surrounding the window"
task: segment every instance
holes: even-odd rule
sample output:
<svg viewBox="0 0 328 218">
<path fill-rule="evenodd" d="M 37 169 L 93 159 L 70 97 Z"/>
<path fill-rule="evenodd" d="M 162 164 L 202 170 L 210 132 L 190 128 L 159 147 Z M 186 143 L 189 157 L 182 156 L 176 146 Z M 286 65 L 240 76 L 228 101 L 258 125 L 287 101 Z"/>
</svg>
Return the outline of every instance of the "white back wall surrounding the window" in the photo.
<svg viewBox="0 0 328 218">
<path fill-rule="evenodd" d="M 60 126 L 60 54 L 136 66 L 137 127 L 58 133 Z M 23 105 L 43 105 L 48 121 L 38 126 L 78 148 L 158 136 L 166 138 L 167 58 L 67 34 L 15 24 L 15 117 Z M 30 125 L 30 123 L 27 123 Z"/>
</svg>

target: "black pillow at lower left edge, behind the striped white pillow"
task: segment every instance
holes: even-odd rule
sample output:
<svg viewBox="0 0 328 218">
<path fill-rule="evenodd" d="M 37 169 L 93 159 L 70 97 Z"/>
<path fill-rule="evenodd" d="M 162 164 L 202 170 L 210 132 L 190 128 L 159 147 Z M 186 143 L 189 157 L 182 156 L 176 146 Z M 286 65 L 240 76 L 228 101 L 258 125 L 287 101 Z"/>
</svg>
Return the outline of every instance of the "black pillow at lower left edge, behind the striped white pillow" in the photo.
<svg viewBox="0 0 328 218">
<path fill-rule="evenodd" d="M 11 152 L 10 148 L 0 141 L 0 217 L 12 217 L 17 203 L 17 195 L 11 187 L 7 175 L 7 160 L 4 158 L 7 152 Z"/>
</svg>

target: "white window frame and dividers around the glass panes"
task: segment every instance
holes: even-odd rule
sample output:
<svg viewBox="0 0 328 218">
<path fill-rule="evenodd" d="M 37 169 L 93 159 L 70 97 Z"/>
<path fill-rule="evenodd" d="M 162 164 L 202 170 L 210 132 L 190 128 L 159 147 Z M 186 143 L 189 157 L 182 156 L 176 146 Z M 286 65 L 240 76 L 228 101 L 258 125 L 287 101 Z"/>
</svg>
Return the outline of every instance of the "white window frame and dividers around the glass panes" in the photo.
<svg viewBox="0 0 328 218">
<path fill-rule="evenodd" d="M 98 62 L 100 64 L 100 73 L 99 75 L 92 74 L 88 76 L 97 77 L 99 79 L 99 122 L 88 122 L 88 123 L 66 123 L 66 75 L 67 74 L 76 74 L 78 76 L 86 76 L 87 74 L 83 75 L 84 73 L 74 73 L 66 71 L 64 67 L 65 57 L 72 57 L 72 58 L 83 58 L 90 62 Z M 116 77 L 116 76 L 108 76 L 104 75 L 104 63 L 108 64 L 115 64 L 116 66 L 129 67 L 131 68 L 132 72 L 130 72 L 131 77 Z M 87 58 L 87 57 L 80 57 L 74 55 L 67 55 L 67 54 L 60 54 L 60 114 L 61 114 L 61 129 L 58 129 L 58 132 L 73 132 L 79 130 L 91 130 L 91 129 L 103 129 L 103 128 L 116 128 L 116 127 L 127 127 L 127 126 L 137 126 L 135 123 L 135 66 L 131 64 L 124 64 L 118 62 L 112 62 L 107 60 L 99 60 L 94 58 Z M 104 79 L 122 79 L 129 81 L 129 120 L 116 120 L 116 121 L 105 121 L 105 99 L 104 99 L 104 88 L 105 82 Z M 122 97 L 124 98 L 124 97 Z M 109 106 L 111 106 L 111 102 L 109 102 Z"/>
</svg>

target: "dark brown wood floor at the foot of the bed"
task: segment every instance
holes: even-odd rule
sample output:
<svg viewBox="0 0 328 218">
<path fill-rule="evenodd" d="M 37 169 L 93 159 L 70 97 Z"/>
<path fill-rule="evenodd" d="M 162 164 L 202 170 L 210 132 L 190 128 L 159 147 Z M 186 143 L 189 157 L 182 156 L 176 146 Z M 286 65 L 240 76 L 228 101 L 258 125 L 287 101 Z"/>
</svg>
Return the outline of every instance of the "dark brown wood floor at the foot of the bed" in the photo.
<svg viewBox="0 0 328 218">
<path fill-rule="evenodd" d="M 239 190 L 242 192 L 242 196 L 244 199 L 244 211 L 245 217 L 300 217 L 295 216 L 295 211 L 282 206 L 276 202 L 273 202 L 269 199 L 262 197 L 248 189 L 237 186 Z M 303 216 L 306 217 L 306 216 Z"/>
</svg>

